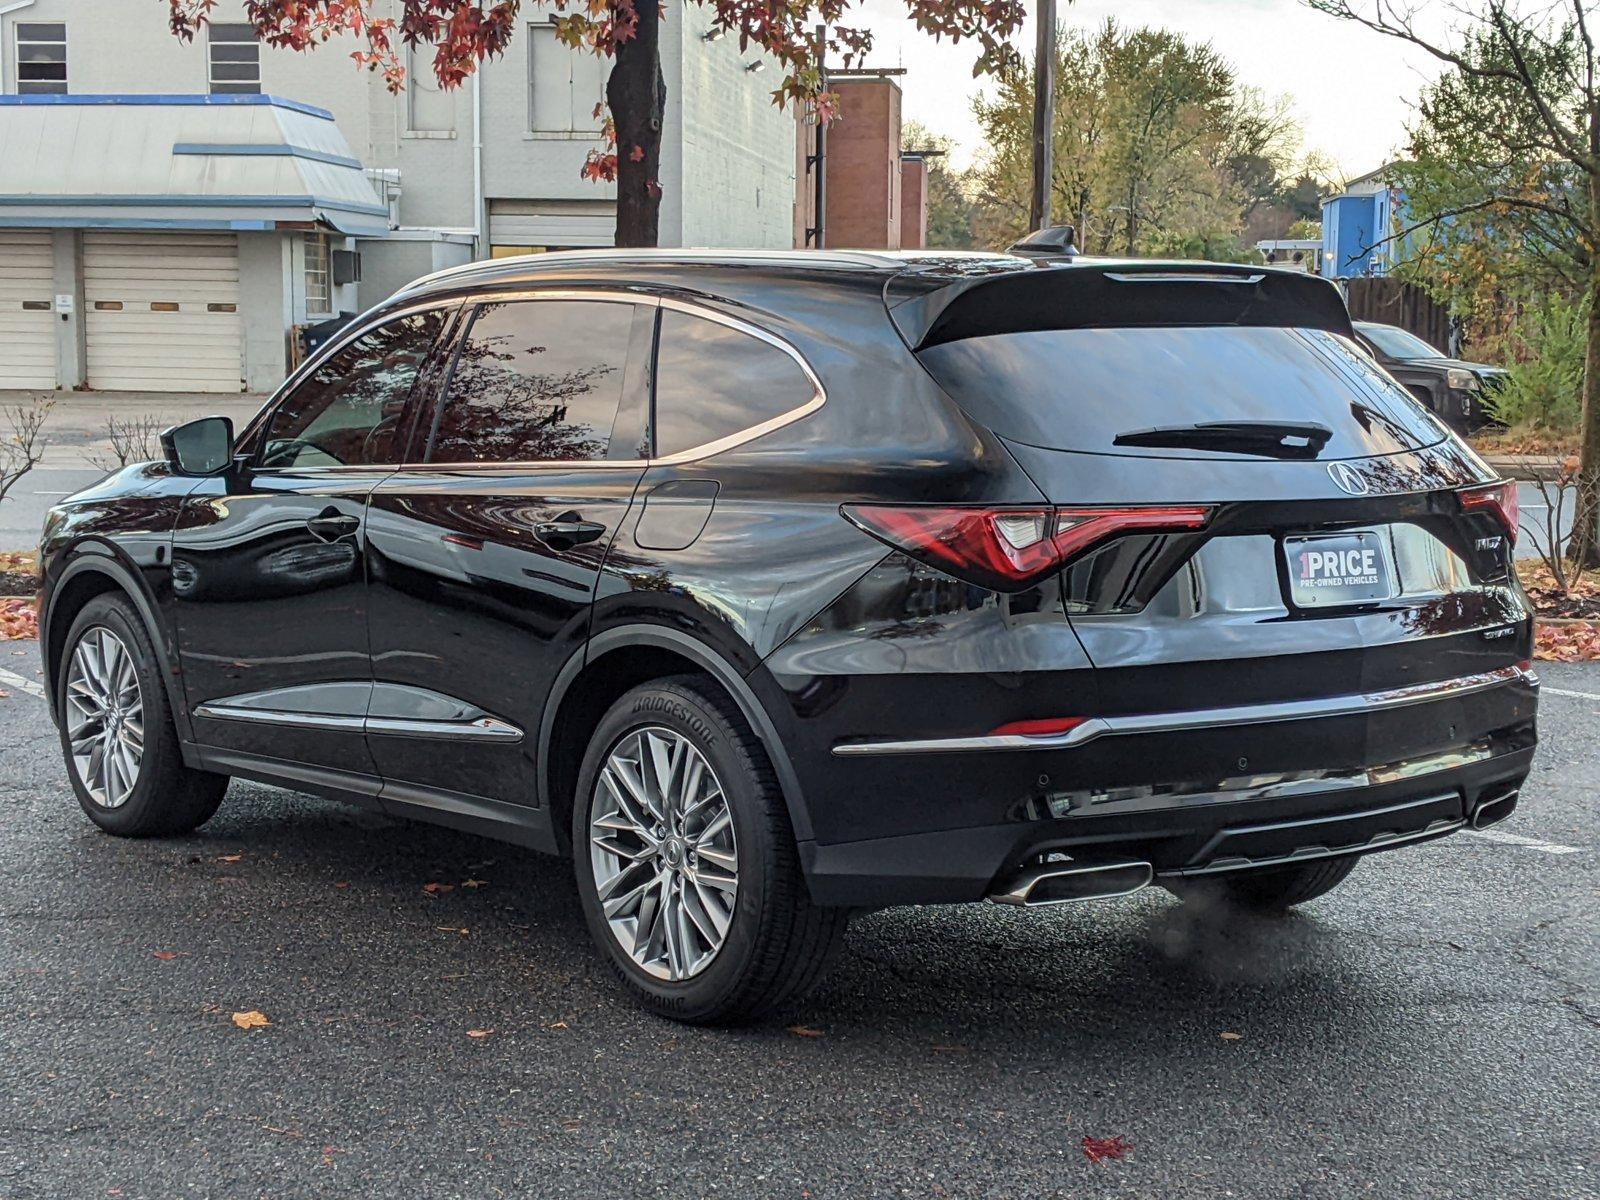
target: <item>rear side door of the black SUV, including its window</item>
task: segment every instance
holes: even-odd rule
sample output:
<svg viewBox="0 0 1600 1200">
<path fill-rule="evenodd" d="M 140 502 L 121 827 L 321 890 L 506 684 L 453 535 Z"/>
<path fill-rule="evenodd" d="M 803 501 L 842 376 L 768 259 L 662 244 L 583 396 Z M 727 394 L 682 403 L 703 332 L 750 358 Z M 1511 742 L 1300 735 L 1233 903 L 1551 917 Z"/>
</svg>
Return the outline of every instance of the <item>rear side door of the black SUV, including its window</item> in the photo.
<svg viewBox="0 0 1600 1200">
<path fill-rule="evenodd" d="M 424 461 L 374 488 L 368 746 L 386 806 L 531 827 L 544 699 L 589 635 L 643 474 L 653 326 L 627 298 L 478 306 Z"/>
</svg>

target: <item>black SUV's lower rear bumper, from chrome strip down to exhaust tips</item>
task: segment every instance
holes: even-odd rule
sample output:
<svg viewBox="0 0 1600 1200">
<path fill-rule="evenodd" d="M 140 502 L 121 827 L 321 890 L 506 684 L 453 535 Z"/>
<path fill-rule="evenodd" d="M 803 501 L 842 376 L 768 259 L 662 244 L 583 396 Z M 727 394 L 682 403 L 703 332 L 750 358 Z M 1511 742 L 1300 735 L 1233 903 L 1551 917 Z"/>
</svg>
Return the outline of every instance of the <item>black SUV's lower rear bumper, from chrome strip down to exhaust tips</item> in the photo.
<svg viewBox="0 0 1600 1200">
<path fill-rule="evenodd" d="M 845 742 L 835 770 L 861 773 L 848 794 L 880 818 L 893 805 L 899 829 L 805 842 L 802 861 L 816 902 L 882 907 L 981 899 L 1051 853 L 1182 877 L 1392 850 L 1486 803 L 1509 811 L 1536 696 L 1531 672 L 1506 667 L 1050 738 Z M 934 826 L 957 813 L 979 819 Z"/>
</svg>

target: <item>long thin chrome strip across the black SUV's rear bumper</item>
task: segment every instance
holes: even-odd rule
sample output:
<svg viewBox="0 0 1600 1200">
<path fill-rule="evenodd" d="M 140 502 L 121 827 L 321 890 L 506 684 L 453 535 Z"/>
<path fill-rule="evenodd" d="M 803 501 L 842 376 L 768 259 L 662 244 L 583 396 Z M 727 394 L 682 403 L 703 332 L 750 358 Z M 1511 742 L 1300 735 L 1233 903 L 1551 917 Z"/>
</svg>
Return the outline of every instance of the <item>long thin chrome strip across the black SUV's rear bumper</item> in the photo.
<svg viewBox="0 0 1600 1200">
<path fill-rule="evenodd" d="M 1091 717 L 1066 733 L 1027 736 L 1019 733 L 987 734 L 979 738 L 915 738 L 882 742 L 840 742 L 834 754 L 966 754 L 984 750 L 1074 750 L 1096 738 L 1115 738 L 1138 733 L 1184 733 L 1187 730 L 1227 728 L 1234 725 L 1272 725 L 1277 722 L 1315 720 L 1323 717 L 1355 717 L 1363 712 L 1386 712 L 1413 704 L 1429 704 L 1440 699 L 1459 699 L 1507 683 L 1526 682 L 1539 686 L 1533 670 L 1512 666 L 1475 675 L 1459 675 L 1437 683 L 1419 683 L 1410 688 L 1366 691 L 1350 696 L 1326 696 L 1306 701 L 1277 701 L 1272 704 L 1237 704 L 1219 709 L 1190 709 L 1187 712 L 1147 712 L 1122 717 Z"/>
</svg>

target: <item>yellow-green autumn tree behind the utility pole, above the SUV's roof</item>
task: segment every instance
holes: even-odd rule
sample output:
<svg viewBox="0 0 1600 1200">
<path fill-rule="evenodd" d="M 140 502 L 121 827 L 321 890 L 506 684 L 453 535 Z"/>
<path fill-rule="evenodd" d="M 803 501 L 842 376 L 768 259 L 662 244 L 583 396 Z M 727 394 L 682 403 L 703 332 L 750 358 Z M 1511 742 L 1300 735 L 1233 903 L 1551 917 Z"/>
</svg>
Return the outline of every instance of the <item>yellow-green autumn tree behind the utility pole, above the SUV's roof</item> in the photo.
<svg viewBox="0 0 1600 1200">
<path fill-rule="evenodd" d="M 1232 258 L 1248 211 L 1278 190 L 1298 133 L 1210 46 L 1107 21 L 1056 42 L 1056 216 L 1088 253 Z M 1024 232 L 1034 80 L 974 102 L 989 144 L 976 182 L 986 240 Z"/>
</svg>

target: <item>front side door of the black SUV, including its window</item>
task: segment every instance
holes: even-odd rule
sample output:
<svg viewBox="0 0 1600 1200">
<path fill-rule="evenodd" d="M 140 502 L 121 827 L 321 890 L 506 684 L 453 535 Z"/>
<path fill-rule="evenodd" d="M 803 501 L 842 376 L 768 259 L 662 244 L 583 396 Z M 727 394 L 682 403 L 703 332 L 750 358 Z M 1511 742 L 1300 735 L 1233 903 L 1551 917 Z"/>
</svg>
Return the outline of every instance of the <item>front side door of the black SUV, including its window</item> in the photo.
<svg viewBox="0 0 1600 1200">
<path fill-rule="evenodd" d="M 312 787 L 376 794 L 366 498 L 403 458 L 451 312 L 357 333 L 254 422 L 248 458 L 184 501 L 173 619 L 195 741 L 219 770 L 267 758 Z"/>
</svg>

